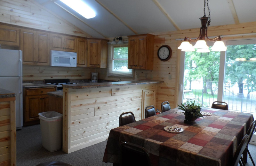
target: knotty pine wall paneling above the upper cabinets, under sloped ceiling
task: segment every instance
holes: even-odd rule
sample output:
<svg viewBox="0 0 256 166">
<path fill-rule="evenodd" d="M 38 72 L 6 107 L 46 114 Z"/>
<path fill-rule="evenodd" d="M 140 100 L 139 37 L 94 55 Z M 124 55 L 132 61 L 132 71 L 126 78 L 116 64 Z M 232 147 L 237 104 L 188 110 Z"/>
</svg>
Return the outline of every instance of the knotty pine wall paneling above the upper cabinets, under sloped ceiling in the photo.
<svg viewBox="0 0 256 166">
<path fill-rule="evenodd" d="M 0 22 L 62 34 L 90 37 L 77 29 L 75 25 L 68 25 L 33 1 L 0 0 Z"/>
</svg>

